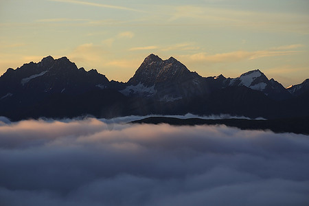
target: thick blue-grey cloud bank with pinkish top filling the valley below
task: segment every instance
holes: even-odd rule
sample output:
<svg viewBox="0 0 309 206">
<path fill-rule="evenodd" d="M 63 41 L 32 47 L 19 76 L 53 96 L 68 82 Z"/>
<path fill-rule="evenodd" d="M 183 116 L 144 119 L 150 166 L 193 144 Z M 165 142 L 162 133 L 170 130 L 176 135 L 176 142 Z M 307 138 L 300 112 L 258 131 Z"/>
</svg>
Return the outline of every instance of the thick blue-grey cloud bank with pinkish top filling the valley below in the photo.
<svg viewBox="0 0 309 206">
<path fill-rule="evenodd" d="M 0 124 L 0 205 L 308 205 L 309 137 L 226 126 Z"/>
</svg>

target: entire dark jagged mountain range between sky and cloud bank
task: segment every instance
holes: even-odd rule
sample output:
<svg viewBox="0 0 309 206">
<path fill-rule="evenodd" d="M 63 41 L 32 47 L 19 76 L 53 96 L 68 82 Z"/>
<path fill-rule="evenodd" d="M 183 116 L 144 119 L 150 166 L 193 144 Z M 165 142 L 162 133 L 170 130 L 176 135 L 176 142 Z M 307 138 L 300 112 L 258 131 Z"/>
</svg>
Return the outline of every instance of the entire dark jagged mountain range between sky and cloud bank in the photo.
<svg viewBox="0 0 309 206">
<path fill-rule="evenodd" d="M 0 77 L 0 115 L 38 117 L 229 114 L 267 119 L 309 117 L 309 79 L 288 88 L 259 69 L 238 78 L 202 77 L 171 57 L 150 54 L 128 82 L 47 56 Z"/>
</svg>

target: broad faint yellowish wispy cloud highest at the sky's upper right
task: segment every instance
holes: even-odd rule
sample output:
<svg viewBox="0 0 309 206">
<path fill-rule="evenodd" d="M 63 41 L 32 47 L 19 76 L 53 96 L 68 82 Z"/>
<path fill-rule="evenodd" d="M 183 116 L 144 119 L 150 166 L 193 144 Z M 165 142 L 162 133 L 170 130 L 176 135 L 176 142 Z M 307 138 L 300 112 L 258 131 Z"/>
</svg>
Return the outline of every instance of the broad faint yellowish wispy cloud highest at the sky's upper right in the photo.
<svg viewBox="0 0 309 206">
<path fill-rule="evenodd" d="M 181 5 L 170 8 L 169 22 L 183 25 L 224 25 L 272 32 L 300 32 L 308 34 L 308 14 L 291 12 L 257 12 L 232 8 L 211 8 L 196 5 Z"/>
</svg>

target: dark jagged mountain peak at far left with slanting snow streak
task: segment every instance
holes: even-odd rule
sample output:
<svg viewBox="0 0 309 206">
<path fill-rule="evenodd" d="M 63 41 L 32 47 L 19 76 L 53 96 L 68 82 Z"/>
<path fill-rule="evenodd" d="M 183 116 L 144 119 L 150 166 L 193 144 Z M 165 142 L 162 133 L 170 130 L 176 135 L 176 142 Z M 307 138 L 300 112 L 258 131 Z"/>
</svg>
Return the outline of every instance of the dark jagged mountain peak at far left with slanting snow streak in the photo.
<svg viewBox="0 0 309 206">
<path fill-rule="evenodd" d="M 47 90 L 58 92 L 65 88 L 69 91 L 69 88 L 81 87 L 80 91 L 84 91 L 94 87 L 95 84 L 105 85 L 109 82 L 95 69 L 90 71 L 85 71 L 84 68 L 78 69 L 76 64 L 65 56 L 58 59 L 47 56 L 41 62 L 30 62 L 17 69 L 8 69 L 1 78 L 8 91 L 19 87 L 35 88 L 34 91 L 43 92 Z"/>
</svg>

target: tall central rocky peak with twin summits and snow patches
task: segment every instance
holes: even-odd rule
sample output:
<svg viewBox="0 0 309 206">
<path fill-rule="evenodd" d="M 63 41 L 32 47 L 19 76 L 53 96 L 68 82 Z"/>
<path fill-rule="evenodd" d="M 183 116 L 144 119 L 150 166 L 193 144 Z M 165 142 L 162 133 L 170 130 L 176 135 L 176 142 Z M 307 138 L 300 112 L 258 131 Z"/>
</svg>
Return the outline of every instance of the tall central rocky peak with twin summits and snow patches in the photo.
<svg viewBox="0 0 309 206">
<path fill-rule="evenodd" d="M 198 73 L 189 71 L 173 57 L 162 60 L 154 54 L 145 58 L 127 85 L 122 91 L 126 95 L 155 97 L 165 102 L 203 95 L 207 89 Z"/>
</svg>

